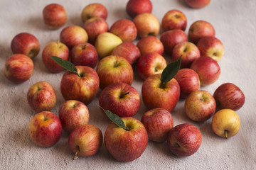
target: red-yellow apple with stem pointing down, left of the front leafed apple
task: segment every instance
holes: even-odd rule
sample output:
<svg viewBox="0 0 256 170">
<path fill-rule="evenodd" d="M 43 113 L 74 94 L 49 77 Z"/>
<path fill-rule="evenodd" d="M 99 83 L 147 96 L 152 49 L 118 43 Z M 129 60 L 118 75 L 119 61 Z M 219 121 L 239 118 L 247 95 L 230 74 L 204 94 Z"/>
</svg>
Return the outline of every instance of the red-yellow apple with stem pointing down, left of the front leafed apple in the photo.
<svg viewBox="0 0 256 170">
<path fill-rule="evenodd" d="M 102 132 L 95 125 L 80 125 L 68 136 L 68 146 L 80 157 L 90 157 L 96 154 L 102 146 Z"/>
</svg>

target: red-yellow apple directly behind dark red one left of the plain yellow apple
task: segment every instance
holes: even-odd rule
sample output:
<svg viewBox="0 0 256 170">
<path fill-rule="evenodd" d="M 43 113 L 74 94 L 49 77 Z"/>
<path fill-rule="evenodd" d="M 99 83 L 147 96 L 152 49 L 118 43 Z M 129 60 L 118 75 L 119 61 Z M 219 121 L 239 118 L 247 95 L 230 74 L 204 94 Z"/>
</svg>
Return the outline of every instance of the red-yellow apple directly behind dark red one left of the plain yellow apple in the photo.
<svg viewBox="0 0 256 170">
<path fill-rule="evenodd" d="M 86 30 L 80 26 L 67 26 L 60 32 L 60 41 L 71 50 L 75 45 L 87 42 Z"/>
</svg>

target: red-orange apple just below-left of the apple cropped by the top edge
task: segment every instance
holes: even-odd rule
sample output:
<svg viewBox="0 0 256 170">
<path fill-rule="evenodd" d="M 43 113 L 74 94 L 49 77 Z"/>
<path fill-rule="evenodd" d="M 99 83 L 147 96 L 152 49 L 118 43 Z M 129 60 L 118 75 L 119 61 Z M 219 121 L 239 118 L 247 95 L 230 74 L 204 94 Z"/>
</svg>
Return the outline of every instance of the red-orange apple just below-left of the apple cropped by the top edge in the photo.
<svg viewBox="0 0 256 170">
<path fill-rule="evenodd" d="M 186 30 L 187 18 L 183 12 L 172 9 L 164 14 L 161 26 L 164 31 L 176 29 Z"/>
</svg>

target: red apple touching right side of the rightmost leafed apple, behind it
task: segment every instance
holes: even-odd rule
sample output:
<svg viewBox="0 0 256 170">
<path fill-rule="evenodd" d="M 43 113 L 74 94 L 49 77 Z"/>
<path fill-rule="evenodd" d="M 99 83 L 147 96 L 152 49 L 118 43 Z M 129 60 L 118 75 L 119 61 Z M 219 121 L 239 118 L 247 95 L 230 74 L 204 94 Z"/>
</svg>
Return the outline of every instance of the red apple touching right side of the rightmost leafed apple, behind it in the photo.
<svg viewBox="0 0 256 170">
<path fill-rule="evenodd" d="M 180 69 L 174 76 L 181 88 L 180 98 L 186 98 L 191 92 L 198 91 L 201 87 L 198 74 L 193 69 Z"/>
</svg>

